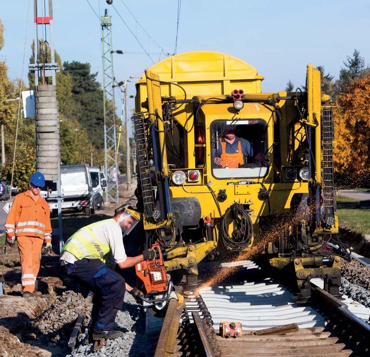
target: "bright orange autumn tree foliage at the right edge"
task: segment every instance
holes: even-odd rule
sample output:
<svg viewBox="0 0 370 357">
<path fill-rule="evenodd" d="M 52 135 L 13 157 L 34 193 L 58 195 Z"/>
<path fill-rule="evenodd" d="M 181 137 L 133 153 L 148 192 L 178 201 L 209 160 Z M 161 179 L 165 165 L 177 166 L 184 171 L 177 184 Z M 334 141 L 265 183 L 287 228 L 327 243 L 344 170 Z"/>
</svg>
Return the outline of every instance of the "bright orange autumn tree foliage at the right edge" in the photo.
<svg viewBox="0 0 370 357">
<path fill-rule="evenodd" d="M 370 77 L 352 83 L 339 96 L 334 115 L 333 161 L 336 172 L 370 182 Z M 362 179 L 361 179 L 362 178 Z"/>
</svg>

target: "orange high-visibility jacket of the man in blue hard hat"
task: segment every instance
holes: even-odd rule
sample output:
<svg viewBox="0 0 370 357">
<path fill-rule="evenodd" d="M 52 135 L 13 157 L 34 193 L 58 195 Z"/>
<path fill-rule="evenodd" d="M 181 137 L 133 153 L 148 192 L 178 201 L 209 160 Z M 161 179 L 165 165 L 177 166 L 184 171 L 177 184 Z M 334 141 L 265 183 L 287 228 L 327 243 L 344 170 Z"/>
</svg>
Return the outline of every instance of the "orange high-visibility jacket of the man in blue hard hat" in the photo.
<svg viewBox="0 0 370 357">
<path fill-rule="evenodd" d="M 13 205 L 5 222 L 8 236 L 38 237 L 51 243 L 50 208 L 48 203 L 39 196 L 35 202 L 30 191 L 14 197 Z"/>
</svg>

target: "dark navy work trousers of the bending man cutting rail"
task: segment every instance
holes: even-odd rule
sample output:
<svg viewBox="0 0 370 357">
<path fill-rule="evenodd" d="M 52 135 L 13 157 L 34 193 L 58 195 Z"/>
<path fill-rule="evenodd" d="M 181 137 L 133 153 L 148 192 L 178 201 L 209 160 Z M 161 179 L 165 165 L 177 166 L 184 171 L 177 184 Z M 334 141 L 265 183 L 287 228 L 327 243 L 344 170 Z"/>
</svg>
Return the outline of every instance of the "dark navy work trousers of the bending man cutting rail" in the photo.
<svg viewBox="0 0 370 357">
<path fill-rule="evenodd" d="M 98 311 L 95 327 L 112 330 L 117 311 L 122 308 L 125 280 L 99 259 L 79 259 L 64 265 L 66 273 L 87 284 L 94 292 L 94 310 Z"/>
</svg>

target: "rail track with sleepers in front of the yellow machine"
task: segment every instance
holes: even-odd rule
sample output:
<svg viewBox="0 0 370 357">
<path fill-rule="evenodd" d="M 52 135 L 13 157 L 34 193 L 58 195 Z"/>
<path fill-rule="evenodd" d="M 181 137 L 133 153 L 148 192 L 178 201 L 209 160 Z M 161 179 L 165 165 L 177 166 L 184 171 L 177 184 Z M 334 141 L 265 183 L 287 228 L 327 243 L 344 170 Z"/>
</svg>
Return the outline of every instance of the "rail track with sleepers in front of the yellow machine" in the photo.
<svg viewBox="0 0 370 357">
<path fill-rule="evenodd" d="M 300 305 L 260 268 L 242 263 L 244 281 L 213 288 L 184 287 L 184 303 L 169 303 L 155 356 L 356 356 L 370 353 L 370 309 L 338 300 L 312 283 L 312 301 Z M 257 272 L 257 274 L 256 274 Z M 241 322 L 240 337 L 219 334 L 221 322 Z M 290 331 L 290 332 L 289 332 Z"/>
</svg>

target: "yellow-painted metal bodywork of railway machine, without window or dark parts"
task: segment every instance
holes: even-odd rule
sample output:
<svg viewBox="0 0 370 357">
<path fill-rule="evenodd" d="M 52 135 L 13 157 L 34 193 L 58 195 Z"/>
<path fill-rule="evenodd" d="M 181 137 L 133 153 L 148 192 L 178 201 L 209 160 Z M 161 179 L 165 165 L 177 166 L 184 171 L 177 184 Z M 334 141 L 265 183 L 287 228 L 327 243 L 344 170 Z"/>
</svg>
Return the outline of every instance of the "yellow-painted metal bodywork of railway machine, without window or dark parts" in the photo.
<svg viewBox="0 0 370 357">
<path fill-rule="evenodd" d="M 151 79 L 148 79 L 150 77 Z M 308 93 L 307 111 L 304 114 L 298 111 L 298 99 L 286 98 L 294 93 L 284 91 L 277 93 L 261 93 L 262 76 L 259 76 L 257 69 L 236 57 L 217 52 L 187 52 L 166 58 L 153 65 L 147 70 L 136 84 L 135 111 L 144 112 L 144 116 L 153 124 L 156 122 L 156 129 L 159 130 L 160 152 L 162 154 L 161 164 L 163 169 L 161 175 L 170 179 L 170 197 L 195 197 L 200 203 L 200 219 L 214 220 L 214 235 L 212 242 L 193 244 L 191 233 L 186 232 L 187 243 L 169 248 L 165 262 L 167 270 L 186 268 L 188 273 L 197 274 L 196 264 L 211 252 L 220 239 L 220 218 L 234 204 L 245 205 L 248 215 L 254 225 L 254 232 L 258 237 L 261 217 L 271 215 L 285 215 L 290 212 L 291 201 L 294 195 L 307 194 L 309 183 L 300 181 L 299 178 L 287 182 L 283 175 L 286 167 L 302 167 L 307 164 L 307 139 L 304 125 L 308 125 L 313 133 L 312 146 L 315 153 L 316 173 L 315 181 L 321 184 L 321 101 L 327 99 L 321 97 L 320 71 L 311 64 L 307 66 Z M 170 82 L 172 84 L 170 84 Z M 179 85 L 179 86 L 176 86 Z M 236 112 L 233 102 L 229 96 L 235 89 L 243 90 L 244 107 Z M 161 96 L 163 102 L 161 100 Z M 183 141 L 170 143 L 178 151 L 185 152 L 184 159 L 171 162 L 171 153 L 166 156 L 166 137 L 163 133 L 164 123 L 162 104 L 164 108 L 169 103 L 169 96 L 176 97 L 176 100 L 191 99 L 196 97 L 192 103 L 176 104 L 172 107 L 172 115 L 168 116 L 167 123 L 173 128 L 176 123 L 178 129 L 181 127 L 182 136 L 177 133 L 177 138 Z M 218 103 L 205 103 L 209 98 L 223 99 Z M 283 97 L 280 99 L 279 97 Z M 172 98 L 173 100 L 173 98 Z M 300 97 L 301 106 L 306 106 L 306 95 Z M 172 102 L 173 103 L 173 102 Z M 202 103 L 202 105 L 198 105 Z M 303 104 L 304 103 L 304 104 Z M 204 104 L 204 105 L 203 105 Z M 168 108 L 168 107 L 167 107 Z M 149 112 L 149 113 L 148 113 Z M 166 110 L 164 110 L 166 113 Z M 281 115 L 278 115 L 281 113 Z M 301 115 L 299 115 L 301 114 Z M 238 122 L 239 120 L 263 120 L 266 123 L 267 157 L 268 166 L 266 175 L 263 177 L 227 177 L 219 178 L 212 171 L 212 146 L 211 129 L 217 120 L 228 120 Z M 170 125 L 170 126 L 171 126 Z M 204 144 L 196 144 L 197 126 L 204 129 Z M 212 129 L 213 130 L 213 129 Z M 249 130 L 248 128 L 245 130 Z M 296 136 L 292 135 L 296 134 Z M 180 144 L 181 142 L 181 144 Z M 169 145 L 169 142 L 167 143 Z M 197 149 L 204 148 L 204 162 L 198 164 Z M 302 157 L 292 160 L 291 153 L 300 153 Z M 264 153 L 266 148 L 264 147 Z M 304 157 L 306 156 L 306 158 Z M 280 160 L 280 161 L 279 161 Z M 305 161 L 305 162 L 304 162 Z M 181 162 L 178 164 L 178 162 Z M 297 163 L 298 162 L 298 163 Z M 185 182 L 179 186 L 171 182 L 173 170 L 200 170 L 201 177 L 197 182 Z M 234 172 L 234 175 L 235 174 Z M 248 184 L 240 181 L 247 180 Z M 252 181 L 252 182 L 249 182 Z M 267 190 L 269 199 L 259 196 L 260 190 Z M 217 199 L 220 193 L 225 194 L 225 200 Z M 262 192 L 263 193 L 263 192 Z M 220 197 L 220 196 L 219 196 Z M 297 197 L 297 196 L 296 196 Z M 298 196 L 300 197 L 300 196 Z M 232 221 L 232 220 L 231 220 Z M 146 230 L 158 229 L 169 226 L 172 217 L 158 224 L 144 223 Z M 213 221 L 212 221 L 213 224 Z M 338 221 L 331 229 L 325 232 L 318 229 L 314 233 L 333 233 L 338 228 Z M 233 225 L 229 226 L 231 233 Z M 204 236 L 203 236 L 204 237 Z M 252 237 L 251 245 L 254 244 Z M 256 238 L 257 239 L 257 238 Z M 275 259 L 275 260 L 274 260 Z M 289 263 L 289 258 L 274 258 L 271 263 L 282 268 Z"/>
</svg>

